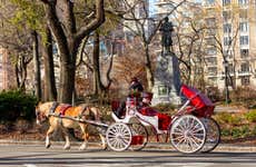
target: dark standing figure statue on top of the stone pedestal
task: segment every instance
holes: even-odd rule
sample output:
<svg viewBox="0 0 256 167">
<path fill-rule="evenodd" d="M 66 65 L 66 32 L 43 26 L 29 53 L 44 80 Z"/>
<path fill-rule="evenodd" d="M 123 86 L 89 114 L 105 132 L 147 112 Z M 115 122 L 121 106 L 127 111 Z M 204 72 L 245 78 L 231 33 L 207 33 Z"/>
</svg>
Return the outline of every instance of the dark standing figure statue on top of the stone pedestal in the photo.
<svg viewBox="0 0 256 167">
<path fill-rule="evenodd" d="M 161 23 L 161 46 L 163 52 L 170 52 L 170 46 L 173 46 L 171 32 L 174 31 L 174 26 L 171 21 L 169 21 L 168 17 L 165 18 L 165 22 Z"/>
</svg>

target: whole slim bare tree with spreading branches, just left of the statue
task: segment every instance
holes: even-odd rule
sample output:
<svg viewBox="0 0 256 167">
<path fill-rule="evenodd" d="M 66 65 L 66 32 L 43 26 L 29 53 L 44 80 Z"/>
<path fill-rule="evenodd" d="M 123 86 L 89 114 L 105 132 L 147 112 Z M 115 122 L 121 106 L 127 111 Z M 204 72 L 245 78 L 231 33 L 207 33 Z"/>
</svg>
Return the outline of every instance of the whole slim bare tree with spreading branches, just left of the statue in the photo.
<svg viewBox="0 0 256 167">
<path fill-rule="evenodd" d="M 181 6 L 184 1 L 180 1 L 177 6 L 173 8 L 173 10 L 169 11 L 169 13 L 166 14 L 166 17 L 170 16 L 179 6 Z M 114 11 L 118 17 L 122 18 L 124 26 L 129 29 L 134 33 L 134 36 L 139 37 L 140 41 L 142 43 L 144 49 L 144 56 L 145 56 L 145 69 L 146 69 L 146 76 L 148 80 L 148 89 L 151 90 L 154 87 L 154 70 L 152 70 L 152 61 L 150 56 L 150 43 L 154 40 L 154 37 L 156 37 L 157 31 L 164 21 L 163 19 L 154 19 L 149 14 L 149 4 L 148 1 L 145 0 L 122 0 L 121 1 L 124 7 L 122 10 L 116 10 Z M 139 12 L 138 12 L 139 11 Z M 128 26 L 127 22 L 130 22 L 130 26 Z M 152 30 L 149 29 L 149 26 L 155 24 Z"/>
</svg>

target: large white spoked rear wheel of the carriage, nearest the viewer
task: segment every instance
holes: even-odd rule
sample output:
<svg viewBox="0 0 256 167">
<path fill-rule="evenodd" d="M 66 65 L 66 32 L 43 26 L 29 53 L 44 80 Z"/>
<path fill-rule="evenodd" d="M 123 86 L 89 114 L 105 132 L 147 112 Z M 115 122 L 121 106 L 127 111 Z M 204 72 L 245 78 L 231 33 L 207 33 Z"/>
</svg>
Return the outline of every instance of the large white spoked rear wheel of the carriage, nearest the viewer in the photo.
<svg viewBox="0 0 256 167">
<path fill-rule="evenodd" d="M 205 140 L 205 126 L 195 116 L 181 116 L 171 125 L 170 141 L 181 153 L 191 154 L 198 151 L 203 148 Z"/>
</svg>

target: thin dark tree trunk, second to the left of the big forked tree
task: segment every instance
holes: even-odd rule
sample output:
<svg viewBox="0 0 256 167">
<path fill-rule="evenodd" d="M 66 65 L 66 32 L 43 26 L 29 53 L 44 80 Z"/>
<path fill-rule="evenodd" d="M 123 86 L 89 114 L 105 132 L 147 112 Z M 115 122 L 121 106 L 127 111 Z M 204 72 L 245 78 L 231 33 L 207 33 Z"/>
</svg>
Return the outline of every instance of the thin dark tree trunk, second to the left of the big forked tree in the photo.
<svg viewBox="0 0 256 167">
<path fill-rule="evenodd" d="M 35 61 L 35 88 L 36 88 L 36 97 L 40 100 L 42 95 L 41 95 L 41 72 L 40 72 L 37 31 L 32 31 L 32 38 L 33 38 L 33 61 Z"/>
</svg>

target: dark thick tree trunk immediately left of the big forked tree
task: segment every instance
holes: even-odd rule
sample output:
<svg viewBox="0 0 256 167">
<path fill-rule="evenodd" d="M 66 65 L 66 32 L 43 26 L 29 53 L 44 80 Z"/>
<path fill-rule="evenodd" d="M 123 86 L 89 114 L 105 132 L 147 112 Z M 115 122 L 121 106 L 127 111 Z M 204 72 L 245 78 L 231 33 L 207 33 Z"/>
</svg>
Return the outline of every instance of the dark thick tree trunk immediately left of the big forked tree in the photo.
<svg viewBox="0 0 256 167">
<path fill-rule="evenodd" d="M 57 89 L 55 79 L 55 63 L 52 55 L 52 37 L 50 29 L 46 29 L 47 43 L 42 43 L 45 63 L 45 101 L 57 100 Z"/>
</svg>

